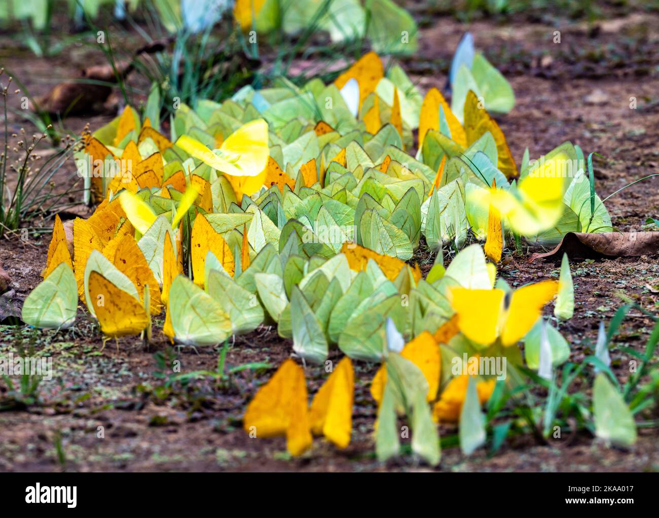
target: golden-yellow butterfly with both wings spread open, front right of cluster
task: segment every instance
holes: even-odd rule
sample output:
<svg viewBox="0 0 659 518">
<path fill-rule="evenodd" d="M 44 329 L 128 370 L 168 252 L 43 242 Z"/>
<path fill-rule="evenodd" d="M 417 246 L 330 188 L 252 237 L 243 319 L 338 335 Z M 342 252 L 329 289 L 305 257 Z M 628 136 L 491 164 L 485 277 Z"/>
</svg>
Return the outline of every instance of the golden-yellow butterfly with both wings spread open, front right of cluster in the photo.
<svg viewBox="0 0 659 518">
<path fill-rule="evenodd" d="M 450 296 L 467 338 L 484 345 L 499 338 L 503 346 L 511 346 L 529 332 L 557 289 L 558 282 L 544 280 L 513 292 L 453 288 Z"/>
</svg>

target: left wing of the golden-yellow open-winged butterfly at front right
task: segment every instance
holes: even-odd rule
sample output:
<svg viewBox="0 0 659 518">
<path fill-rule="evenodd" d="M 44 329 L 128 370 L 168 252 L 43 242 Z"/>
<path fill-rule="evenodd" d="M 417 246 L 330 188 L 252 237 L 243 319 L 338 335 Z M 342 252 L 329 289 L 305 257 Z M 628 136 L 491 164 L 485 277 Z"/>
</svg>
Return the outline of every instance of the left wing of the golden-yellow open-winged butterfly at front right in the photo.
<svg viewBox="0 0 659 518">
<path fill-rule="evenodd" d="M 451 303 L 458 315 L 458 326 L 467 338 L 483 345 L 496 340 L 503 296 L 503 290 L 451 290 Z"/>
</svg>

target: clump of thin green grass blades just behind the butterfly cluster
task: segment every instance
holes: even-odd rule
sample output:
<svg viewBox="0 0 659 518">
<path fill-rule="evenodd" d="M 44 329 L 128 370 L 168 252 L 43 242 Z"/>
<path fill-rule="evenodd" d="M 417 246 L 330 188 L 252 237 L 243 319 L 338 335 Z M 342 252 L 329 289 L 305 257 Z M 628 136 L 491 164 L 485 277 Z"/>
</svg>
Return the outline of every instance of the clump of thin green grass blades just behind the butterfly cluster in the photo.
<svg viewBox="0 0 659 518">
<path fill-rule="evenodd" d="M 189 30 L 185 24 L 172 32 L 171 26 L 165 27 L 163 13 L 151 2 L 145 2 L 135 14 L 126 13 L 123 26 L 105 28 L 107 39 L 100 48 L 115 70 L 119 70 L 120 62 L 130 63 L 134 74 L 130 83 L 117 74 L 125 103 L 138 107 L 138 101 L 150 86 L 151 93 L 156 90 L 153 97 L 158 99 L 159 109 L 167 117 L 175 115 L 181 104 L 194 108 L 202 99 L 225 101 L 247 84 L 262 88 L 281 76 L 296 86 L 302 86 L 311 77 L 333 79 L 339 73 L 335 66 L 337 59 L 341 56 L 348 58 L 347 61 L 357 59 L 365 47 L 364 38 L 342 43 L 320 42 L 320 20 L 332 1 L 323 1 L 301 34 L 291 36 L 280 27 L 260 35 L 258 44 L 246 38 L 230 15 L 200 32 Z M 134 16 L 140 17 L 139 22 Z M 95 27 L 91 18 L 87 17 L 86 23 L 92 32 L 103 29 Z M 113 45 L 129 37 L 127 27 L 144 39 L 144 47 L 133 52 Z M 299 66 L 307 62 L 311 64 Z M 147 106 L 151 101 L 149 95 Z"/>
</svg>

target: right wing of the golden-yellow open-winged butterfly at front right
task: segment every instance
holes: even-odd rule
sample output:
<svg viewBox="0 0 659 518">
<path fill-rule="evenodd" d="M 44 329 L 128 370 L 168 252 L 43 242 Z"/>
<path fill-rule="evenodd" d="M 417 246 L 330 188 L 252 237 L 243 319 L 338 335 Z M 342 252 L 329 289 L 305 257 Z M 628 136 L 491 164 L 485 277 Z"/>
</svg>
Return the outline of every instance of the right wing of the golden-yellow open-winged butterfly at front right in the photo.
<svg viewBox="0 0 659 518">
<path fill-rule="evenodd" d="M 516 344 L 540 318 L 542 307 L 556 295 L 558 281 L 543 280 L 515 290 L 501 331 L 504 346 Z"/>
</svg>

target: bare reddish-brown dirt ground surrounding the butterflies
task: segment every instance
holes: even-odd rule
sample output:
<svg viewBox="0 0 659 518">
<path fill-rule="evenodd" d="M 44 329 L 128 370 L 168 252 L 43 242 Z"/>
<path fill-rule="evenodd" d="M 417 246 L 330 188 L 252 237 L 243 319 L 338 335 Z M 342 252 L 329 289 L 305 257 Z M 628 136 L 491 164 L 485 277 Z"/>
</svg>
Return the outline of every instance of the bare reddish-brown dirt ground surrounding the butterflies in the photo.
<svg viewBox="0 0 659 518">
<path fill-rule="evenodd" d="M 508 24 L 474 22 L 476 44 L 506 74 L 515 90 L 517 105 L 500 124 L 518 163 L 525 147 L 531 157 L 571 140 L 585 152 L 598 151 L 598 194 L 608 195 L 631 180 L 656 172 L 659 163 L 659 18 L 629 14 L 598 24 Z M 433 17 L 422 30 L 421 49 L 403 65 L 422 88 L 444 86 L 447 63 L 467 26 L 453 18 Z M 552 42 L 561 30 L 560 44 Z M 2 40 L 0 40 L 2 41 Z M 27 51 L 16 53 L 11 42 L 0 44 L 3 65 L 14 70 L 30 92 L 44 93 L 53 82 L 74 74 L 80 66 L 99 59 L 85 48 L 51 59 L 37 59 Z M 588 103 L 596 92 L 597 103 Z M 629 108 L 630 97 L 638 108 Z M 65 127 L 79 133 L 86 123 L 105 124 L 110 115 L 72 117 Z M 10 133 L 28 122 L 10 118 Z M 72 164 L 64 179 L 72 177 Z M 647 217 L 659 217 L 659 182 L 637 184 L 613 197 L 608 209 L 620 230 L 641 230 Z M 650 230 L 650 228 L 646 228 Z M 20 301 L 40 281 L 47 236 L 40 241 L 0 241 L 0 261 L 11 276 L 13 296 Z M 528 256 L 526 256 L 528 257 Z M 426 258 L 427 259 L 427 258 Z M 525 284 L 556 277 L 552 263 L 529 264 L 525 257 L 507 255 L 501 274 L 509 282 Z M 601 260 L 574 263 L 575 316 L 561 332 L 572 346 L 571 359 L 590 353 L 600 320 L 607 321 L 621 305 L 619 294 L 656 312 L 659 265 L 654 258 Z M 161 321 L 159 322 L 161 324 Z M 625 321 L 612 350 L 614 370 L 625 378 L 629 357 L 619 346 L 640 349 L 648 338 L 650 319 L 637 312 Z M 157 326 L 159 328 L 159 325 Z M 19 344 L 36 353 L 52 355 L 55 377 L 42 382 L 38 405 L 0 412 L 0 471 L 413 471 L 428 469 L 409 455 L 383 465 L 374 457 L 372 429 L 376 415 L 368 392 L 375 365 L 357 363 L 353 438 L 344 451 L 322 439 L 301 458 L 291 459 L 285 440 L 250 440 L 241 428 L 244 405 L 273 369 L 241 373 L 228 386 L 200 381 L 188 388 L 163 392 L 155 376 L 155 351 L 165 351 L 161 333 L 146 351 L 138 340 L 119 341 L 100 351 L 101 337 L 82 316 L 72 328 L 57 334 L 3 328 L 0 349 Z M 182 372 L 214 369 L 217 350 L 176 351 Z M 279 365 L 289 357 L 291 344 L 271 328 L 238 337 L 227 355 L 229 365 L 267 361 Z M 333 353 L 338 358 L 337 353 Z M 310 394 L 325 378 L 320 367 L 305 369 Z M 7 390 L 0 381 L 0 401 Z M 105 430 L 97 438 L 98 427 Z M 455 432 L 442 426 L 442 436 Z M 457 448 L 445 448 L 442 471 L 657 471 L 659 432 L 639 430 L 631 450 L 605 448 L 588 434 L 570 440 L 540 444 L 530 436 L 509 440 L 488 458 L 485 452 L 469 459 Z M 65 452 L 58 461 L 57 436 Z"/>
</svg>

